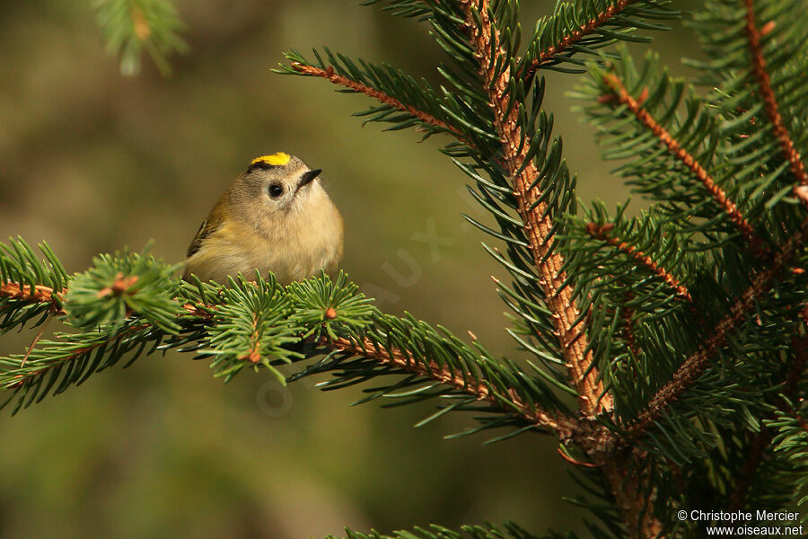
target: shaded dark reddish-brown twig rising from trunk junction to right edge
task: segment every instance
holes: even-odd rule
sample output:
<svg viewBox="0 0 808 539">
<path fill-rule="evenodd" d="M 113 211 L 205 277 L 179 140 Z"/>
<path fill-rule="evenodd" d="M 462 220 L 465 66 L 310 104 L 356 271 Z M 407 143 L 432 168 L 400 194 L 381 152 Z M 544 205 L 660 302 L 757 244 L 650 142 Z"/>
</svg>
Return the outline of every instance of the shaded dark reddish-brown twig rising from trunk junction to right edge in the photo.
<svg viewBox="0 0 808 539">
<path fill-rule="evenodd" d="M 628 426 L 622 440 L 623 443 L 630 444 L 641 437 L 646 429 L 662 416 L 668 406 L 704 373 L 709 359 L 724 345 L 730 331 L 733 331 L 735 326 L 742 322 L 744 315 L 755 304 L 755 301 L 768 290 L 771 279 L 784 270 L 795 253 L 803 246 L 806 237 L 808 237 L 808 218 L 804 219 L 800 231 L 777 252 L 768 269 L 760 271 L 752 279 L 751 286 L 735 301 L 730 313 L 716 325 L 715 331 L 705 340 L 701 349 L 681 364 L 681 367 L 673 374 L 671 381 L 664 384 L 648 402 L 645 409 L 637 414 L 637 419 Z"/>
</svg>

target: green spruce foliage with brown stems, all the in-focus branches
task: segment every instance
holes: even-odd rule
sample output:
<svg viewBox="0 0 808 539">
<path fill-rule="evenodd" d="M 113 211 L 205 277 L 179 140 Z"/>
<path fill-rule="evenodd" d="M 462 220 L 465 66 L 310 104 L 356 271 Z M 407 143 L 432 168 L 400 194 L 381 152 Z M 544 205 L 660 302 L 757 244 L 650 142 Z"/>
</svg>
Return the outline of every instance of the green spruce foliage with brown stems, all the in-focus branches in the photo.
<svg viewBox="0 0 808 539">
<path fill-rule="evenodd" d="M 182 282 L 148 252 L 119 252 L 69 276 L 47 244 L 38 253 L 17 239 L 0 244 L 0 331 L 52 318 L 66 331 L 0 359 L 6 404 L 18 411 L 176 349 L 224 379 L 251 368 L 282 382 L 329 373 L 326 389 L 372 380 L 364 401 L 434 400 L 424 422 L 474 411 L 463 434 L 555 437 L 589 492 L 578 501 L 593 537 L 698 536 L 705 523 L 678 511 L 808 499 L 804 3 L 705 2 L 688 22 L 709 58 L 691 62 L 694 81 L 621 43 L 664 30 L 680 16 L 672 2 L 558 2 L 524 36 L 514 0 L 365 4 L 425 25 L 445 52 L 439 87 L 329 49 L 290 52 L 278 71 L 366 94 L 364 121 L 445 138 L 490 213 L 466 218 L 510 276 L 497 286 L 523 355 L 497 359 L 477 340 L 383 314 L 343 274 Z M 648 209 L 578 207 L 542 107 L 545 70 L 582 76 L 575 97 L 603 156 Z M 285 377 L 280 364 L 299 367 Z M 394 536 L 555 535 L 486 525 Z"/>
</svg>

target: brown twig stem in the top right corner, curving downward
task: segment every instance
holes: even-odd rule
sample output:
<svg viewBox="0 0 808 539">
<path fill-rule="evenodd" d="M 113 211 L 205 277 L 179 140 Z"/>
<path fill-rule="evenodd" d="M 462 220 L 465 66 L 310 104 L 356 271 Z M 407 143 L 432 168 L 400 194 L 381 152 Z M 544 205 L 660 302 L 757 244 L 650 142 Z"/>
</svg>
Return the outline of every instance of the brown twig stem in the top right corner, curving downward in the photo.
<svg viewBox="0 0 808 539">
<path fill-rule="evenodd" d="M 768 119 L 771 120 L 772 131 L 774 131 L 777 140 L 780 142 L 780 147 L 782 147 L 783 154 L 791 165 L 791 172 L 794 173 L 797 182 L 799 185 L 808 185 L 808 172 L 805 172 L 800 153 L 794 147 L 794 141 L 789 136 L 788 129 L 786 129 L 783 118 L 780 116 L 777 97 L 771 87 L 771 79 L 766 69 L 766 59 L 763 57 L 760 38 L 764 33 L 768 32 L 758 30 L 753 0 L 744 0 L 744 4 L 746 5 L 746 35 L 749 40 L 749 49 L 751 50 L 752 68 L 755 78 L 758 79 L 758 84 L 760 84 L 760 94 L 766 104 L 766 113 Z M 768 22 L 768 24 L 772 24 L 772 22 Z M 766 30 L 768 24 L 764 25 L 763 30 Z"/>
</svg>

